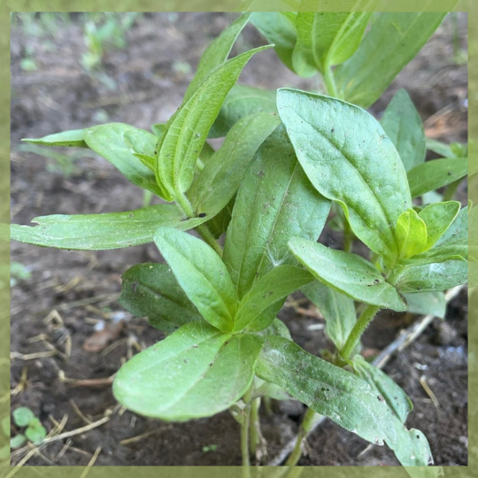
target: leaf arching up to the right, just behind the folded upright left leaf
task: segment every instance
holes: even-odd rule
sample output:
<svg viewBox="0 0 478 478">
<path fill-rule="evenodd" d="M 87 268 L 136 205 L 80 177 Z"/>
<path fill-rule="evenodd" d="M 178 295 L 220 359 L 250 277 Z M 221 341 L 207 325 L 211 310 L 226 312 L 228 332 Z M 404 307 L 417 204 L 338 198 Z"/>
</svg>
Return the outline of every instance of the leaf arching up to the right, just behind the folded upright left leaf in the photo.
<svg viewBox="0 0 478 478">
<path fill-rule="evenodd" d="M 255 113 L 235 123 L 189 189 L 197 214 L 212 218 L 227 206 L 259 146 L 280 123 L 278 116 L 269 113 Z"/>
</svg>

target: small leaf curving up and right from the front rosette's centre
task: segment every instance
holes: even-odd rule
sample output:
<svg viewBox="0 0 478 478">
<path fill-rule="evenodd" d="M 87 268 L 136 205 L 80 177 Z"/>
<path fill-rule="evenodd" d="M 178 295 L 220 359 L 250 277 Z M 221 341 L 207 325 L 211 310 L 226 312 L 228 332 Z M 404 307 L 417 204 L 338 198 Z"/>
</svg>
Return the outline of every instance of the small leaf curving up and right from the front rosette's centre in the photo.
<svg viewBox="0 0 478 478">
<path fill-rule="evenodd" d="M 235 315 L 233 330 L 247 328 L 258 332 L 268 327 L 285 298 L 311 281 L 312 275 L 304 269 L 287 265 L 274 267 L 243 297 Z"/>
</svg>

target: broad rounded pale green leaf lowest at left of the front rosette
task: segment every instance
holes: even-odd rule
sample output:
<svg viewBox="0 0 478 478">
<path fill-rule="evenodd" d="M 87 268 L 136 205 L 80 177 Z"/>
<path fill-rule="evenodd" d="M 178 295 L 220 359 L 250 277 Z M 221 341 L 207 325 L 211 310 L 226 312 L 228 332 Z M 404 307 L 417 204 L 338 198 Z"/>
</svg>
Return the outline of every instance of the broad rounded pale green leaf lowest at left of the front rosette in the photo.
<svg viewBox="0 0 478 478">
<path fill-rule="evenodd" d="M 226 410 L 251 386 L 262 340 L 191 322 L 135 355 L 116 375 L 121 405 L 147 417 L 185 421 Z"/>
</svg>

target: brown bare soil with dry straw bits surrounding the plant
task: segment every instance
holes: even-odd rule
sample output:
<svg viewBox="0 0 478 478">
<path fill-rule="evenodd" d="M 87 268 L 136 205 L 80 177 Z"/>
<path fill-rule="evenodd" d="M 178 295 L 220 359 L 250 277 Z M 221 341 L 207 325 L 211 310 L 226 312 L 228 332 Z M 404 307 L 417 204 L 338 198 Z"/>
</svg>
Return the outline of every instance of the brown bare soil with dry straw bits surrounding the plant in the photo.
<svg viewBox="0 0 478 478">
<path fill-rule="evenodd" d="M 42 35 L 31 35 L 21 22 L 13 27 L 12 222 L 27 224 L 35 216 L 52 213 L 141 207 L 143 193 L 104 159 L 76 153 L 75 171 L 66 178 L 54 170 L 52 158 L 21 150 L 20 139 L 109 121 L 145 129 L 166 121 L 181 104 L 205 45 L 232 18 L 230 13 L 143 14 L 127 32 L 125 48 L 105 51 L 103 80 L 99 73 L 89 74 L 81 67 L 85 47 L 80 15 Z M 459 49 L 466 50 L 466 14 L 460 13 L 458 20 L 456 30 L 450 19 L 444 21 L 371 112 L 380 117 L 393 93 L 406 88 L 425 120 L 428 136 L 466 142 L 467 71 L 453 50 L 455 34 Z M 260 44 L 258 33 L 247 27 L 234 52 Z M 35 71 L 21 69 L 27 55 L 35 59 Z M 252 58 L 241 81 L 262 88 L 318 88 L 316 79 L 305 81 L 290 73 L 272 50 Z M 458 195 L 466 204 L 465 183 Z M 342 241 L 331 231 L 325 237 L 328 243 Z M 160 260 L 152 244 L 82 252 L 12 243 L 12 261 L 31 272 L 31 278 L 12 288 L 12 351 L 16 352 L 12 408 L 29 406 L 49 430 L 64 417 L 65 429 L 73 430 L 103 418 L 107 410 L 113 412 L 101 427 L 67 442 L 50 443 L 28 465 L 86 465 L 98 447 L 98 466 L 240 465 L 238 425 L 228 412 L 188 423 L 163 423 L 119 412 L 112 397 L 108 378 L 137 348 L 163 338 L 144 320 L 122 311 L 116 302 L 120 276 L 136 263 Z M 428 436 L 435 462 L 443 466 L 467 463 L 466 304 L 462 291 L 444 322 L 434 321 L 385 367 L 412 398 L 414 410 L 407 425 Z M 323 330 L 310 329 L 320 320 L 297 312 L 297 307 L 284 307 L 280 317 L 305 350 L 317 354 L 331 347 Z M 110 330 L 115 318 L 122 318 L 124 325 L 113 330 L 112 345 L 103 351 L 85 350 L 83 344 L 96 328 L 105 325 Z M 364 336 L 366 353 L 382 350 L 412 320 L 405 314 L 382 312 Z M 45 351 L 50 357 L 42 357 Z M 38 352 L 39 358 L 29 357 Z M 436 405 L 420 384 L 422 376 L 436 396 Z M 269 459 L 294 436 L 303 411 L 297 402 L 276 402 L 273 415 L 263 413 Z M 300 464 L 397 465 L 386 447 L 373 446 L 361 453 L 367 444 L 327 420 L 308 439 Z M 12 464 L 18 461 L 12 457 Z"/>
</svg>

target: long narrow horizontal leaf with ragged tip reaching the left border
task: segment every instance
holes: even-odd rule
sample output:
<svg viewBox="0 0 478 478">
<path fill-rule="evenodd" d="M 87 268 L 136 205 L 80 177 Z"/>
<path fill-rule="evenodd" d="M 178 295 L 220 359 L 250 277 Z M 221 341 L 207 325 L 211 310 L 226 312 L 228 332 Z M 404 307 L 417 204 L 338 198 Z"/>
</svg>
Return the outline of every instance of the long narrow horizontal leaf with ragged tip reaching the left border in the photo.
<svg viewBox="0 0 478 478">
<path fill-rule="evenodd" d="M 34 218 L 38 226 L 12 224 L 12 240 L 58 249 L 104 251 L 152 243 L 160 226 L 192 229 L 207 218 L 185 218 L 174 204 L 157 204 L 127 212 L 53 214 Z"/>
</svg>

